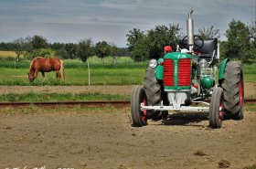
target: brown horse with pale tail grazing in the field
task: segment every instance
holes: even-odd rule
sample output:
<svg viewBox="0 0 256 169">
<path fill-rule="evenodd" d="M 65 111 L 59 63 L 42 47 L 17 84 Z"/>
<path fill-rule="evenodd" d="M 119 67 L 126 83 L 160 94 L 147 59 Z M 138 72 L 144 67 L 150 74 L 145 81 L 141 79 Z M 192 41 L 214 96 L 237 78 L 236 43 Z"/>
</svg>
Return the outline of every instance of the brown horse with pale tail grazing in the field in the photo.
<svg viewBox="0 0 256 169">
<path fill-rule="evenodd" d="M 28 79 L 30 82 L 37 79 L 38 71 L 42 73 L 43 78 L 45 78 L 45 72 L 56 71 L 56 78 L 64 81 L 64 66 L 59 58 L 34 58 L 29 67 Z"/>
</svg>

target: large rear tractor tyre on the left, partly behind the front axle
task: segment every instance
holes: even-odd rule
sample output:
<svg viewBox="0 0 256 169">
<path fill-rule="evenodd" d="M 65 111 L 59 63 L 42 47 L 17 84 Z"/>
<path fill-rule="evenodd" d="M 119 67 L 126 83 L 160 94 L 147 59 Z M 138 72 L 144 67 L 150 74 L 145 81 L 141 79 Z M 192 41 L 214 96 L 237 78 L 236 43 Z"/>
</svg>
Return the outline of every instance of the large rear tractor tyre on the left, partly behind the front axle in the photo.
<svg viewBox="0 0 256 169">
<path fill-rule="evenodd" d="M 161 85 L 155 77 L 155 68 L 148 67 L 144 77 L 144 90 L 147 96 L 148 105 L 155 106 L 161 103 Z M 166 113 L 166 112 L 165 112 Z M 162 119 L 162 111 L 150 110 L 147 113 L 148 118 L 153 121 Z"/>
</svg>

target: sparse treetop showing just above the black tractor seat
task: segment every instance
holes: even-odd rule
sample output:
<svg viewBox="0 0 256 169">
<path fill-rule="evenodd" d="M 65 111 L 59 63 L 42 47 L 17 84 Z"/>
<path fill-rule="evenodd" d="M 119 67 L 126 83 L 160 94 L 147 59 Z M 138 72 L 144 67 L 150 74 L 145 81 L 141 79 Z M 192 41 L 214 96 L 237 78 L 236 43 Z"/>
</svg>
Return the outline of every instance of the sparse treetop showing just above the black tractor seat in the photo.
<svg viewBox="0 0 256 169">
<path fill-rule="evenodd" d="M 219 29 L 214 29 L 213 26 L 210 26 L 209 28 L 206 29 L 205 26 L 202 28 L 198 29 L 198 36 L 202 37 L 203 39 L 208 39 L 208 38 L 215 38 L 215 37 L 220 37 L 219 34 Z"/>
</svg>

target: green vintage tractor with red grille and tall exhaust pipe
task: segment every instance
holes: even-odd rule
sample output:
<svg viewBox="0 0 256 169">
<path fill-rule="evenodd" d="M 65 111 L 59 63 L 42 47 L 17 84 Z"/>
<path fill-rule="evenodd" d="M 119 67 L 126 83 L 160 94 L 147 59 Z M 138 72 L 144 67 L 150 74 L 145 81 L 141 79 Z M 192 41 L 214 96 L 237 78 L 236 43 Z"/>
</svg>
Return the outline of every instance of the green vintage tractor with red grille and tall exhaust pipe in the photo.
<svg viewBox="0 0 256 169">
<path fill-rule="evenodd" d="M 187 36 L 176 52 L 150 60 L 144 87 L 133 89 L 133 127 L 142 127 L 149 119 L 166 119 L 169 111 L 208 112 L 209 126 L 214 129 L 221 128 L 224 119 L 243 119 L 241 63 L 226 58 L 219 64 L 218 39 L 194 36 L 192 12 L 188 13 Z"/>
</svg>

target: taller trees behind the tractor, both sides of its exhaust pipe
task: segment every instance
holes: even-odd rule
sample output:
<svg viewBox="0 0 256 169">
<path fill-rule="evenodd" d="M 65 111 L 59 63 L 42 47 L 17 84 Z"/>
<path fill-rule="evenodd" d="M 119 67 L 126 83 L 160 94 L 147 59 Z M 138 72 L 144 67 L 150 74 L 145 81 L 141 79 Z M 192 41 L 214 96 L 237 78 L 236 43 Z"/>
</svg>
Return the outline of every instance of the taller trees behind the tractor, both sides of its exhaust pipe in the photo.
<svg viewBox="0 0 256 169">
<path fill-rule="evenodd" d="M 131 57 L 135 61 L 161 58 L 167 45 L 176 50 L 176 44 L 179 44 L 181 37 L 185 37 L 181 30 L 178 25 L 155 26 L 148 31 L 130 30 L 126 37 Z M 219 29 L 214 26 L 199 28 L 197 35 L 203 39 L 220 37 Z M 256 21 L 246 25 L 233 19 L 225 36 L 227 41 L 219 41 L 221 58 L 239 59 L 245 63 L 256 61 Z"/>
</svg>

